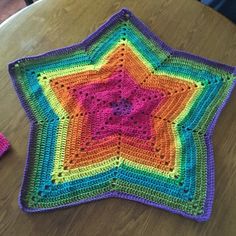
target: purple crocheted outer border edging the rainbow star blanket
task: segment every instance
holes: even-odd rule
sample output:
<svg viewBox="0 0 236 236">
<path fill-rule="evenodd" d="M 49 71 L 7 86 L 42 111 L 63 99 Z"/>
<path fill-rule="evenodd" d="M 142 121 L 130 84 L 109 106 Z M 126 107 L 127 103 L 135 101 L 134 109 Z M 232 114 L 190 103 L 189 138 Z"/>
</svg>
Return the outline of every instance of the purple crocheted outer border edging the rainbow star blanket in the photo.
<svg viewBox="0 0 236 236">
<path fill-rule="evenodd" d="M 166 45 L 160 38 L 158 38 L 154 33 L 152 33 L 150 31 L 150 29 L 142 22 L 140 21 L 136 16 L 134 16 L 132 14 L 132 12 L 130 12 L 128 9 L 121 9 L 118 13 L 114 14 L 108 21 L 106 21 L 102 26 L 99 27 L 99 29 L 97 31 L 95 31 L 93 34 L 91 34 L 90 36 L 88 36 L 85 40 L 83 40 L 81 43 L 77 43 L 68 47 L 64 47 L 61 49 L 56 49 L 53 51 L 49 51 L 47 53 L 44 54 L 40 54 L 38 56 L 29 56 L 29 57 L 25 57 L 25 58 L 21 58 L 18 59 L 12 63 L 9 64 L 9 74 L 11 76 L 12 79 L 12 83 L 13 86 L 18 94 L 20 103 L 22 105 L 22 107 L 25 109 L 26 114 L 28 116 L 28 118 L 30 119 L 32 117 L 32 114 L 30 112 L 30 110 L 28 109 L 27 104 L 25 103 L 22 94 L 20 92 L 20 89 L 18 88 L 17 82 L 16 82 L 16 74 L 14 71 L 14 65 L 18 62 L 24 61 L 24 60 L 37 60 L 39 58 L 43 58 L 43 57 L 47 57 L 47 56 L 53 56 L 53 55 L 59 55 L 62 53 L 66 53 L 66 52 L 70 52 L 70 51 L 74 51 L 77 50 L 78 48 L 83 48 L 83 49 L 87 49 L 91 44 L 93 44 L 94 41 L 96 41 L 96 39 L 104 32 L 106 31 L 106 29 L 110 26 L 112 26 L 113 24 L 115 24 L 118 20 L 126 17 L 128 14 L 129 19 L 141 30 L 141 32 L 146 35 L 146 37 L 151 38 L 153 41 L 155 41 L 159 46 L 162 47 L 163 50 L 165 50 L 167 53 L 172 54 L 174 56 L 178 56 L 178 57 L 183 57 L 186 59 L 191 59 L 200 63 L 204 63 L 216 68 L 221 68 L 231 74 L 236 75 L 236 67 L 233 66 L 228 66 L 213 60 L 208 60 L 206 58 L 200 57 L 200 56 L 196 56 L 193 54 L 190 54 L 188 52 L 184 52 L 184 51 L 180 51 L 180 50 L 174 50 L 171 47 L 169 47 L 168 45 Z M 111 191 L 108 193 L 104 193 L 101 194 L 99 196 L 96 196 L 94 198 L 90 198 L 90 199 L 86 199 L 86 200 L 82 200 L 79 202 L 75 202 L 75 203 L 70 203 L 70 204 L 65 204 L 59 207 L 53 207 L 53 208 L 45 208 L 45 209 L 29 209 L 27 207 L 25 207 L 22 204 L 22 195 L 24 193 L 24 190 L 26 189 L 27 186 L 27 182 L 28 182 L 28 177 L 27 177 L 27 173 L 29 171 L 29 167 L 30 167 L 30 163 L 32 162 L 32 160 L 30 160 L 30 152 L 33 151 L 31 150 L 30 147 L 33 146 L 33 137 L 36 131 L 36 127 L 34 126 L 33 123 L 30 124 L 30 135 L 29 135 L 29 141 L 28 141 L 28 151 L 27 151 L 27 160 L 26 160 L 26 165 L 25 165 L 25 169 L 24 169 L 24 175 L 23 175 L 23 182 L 21 185 L 21 191 L 19 194 L 19 198 L 18 198 L 18 202 L 19 202 L 19 206 L 20 208 L 25 211 L 25 212 L 43 212 L 43 211 L 49 211 L 49 210 L 54 210 L 54 209 L 59 209 L 59 208 L 65 208 L 65 207 L 69 207 L 69 206 L 76 206 L 76 205 L 80 205 L 82 203 L 86 203 L 86 202 L 91 202 L 94 200 L 99 200 L 99 199 L 106 199 L 106 198 L 111 198 L 111 197 L 115 197 L 115 198 L 123 198 L 123 199 L 128 199 L 128 200 L 133 200 L 136 202 L 140 202 L 140 203 L 144 203 L 150 206 L 154 206 L 157 208 L 161 208 L 167 211 L 170 211 L 172 213 L 175 214 L 179 214 L 182 216 L 185 216 L 187 218 L 196 220 L 198 222 L 201 221 L 207 221 L 210 218 L 211 215 L 211 210 L 212 210 L 212 204 L 213 204 L 213 199 L 214 199 L 214 182 L 215 182 L 215 173 L 214 173 L 214 156 L 213 156 L 213 145 L 212 145 L 212 133 L 214 130 L 214 127 L 216 125 L 216 122 L 219 118 L 219 115 L 222 111 L 222 109 L 224 108 L 224 106 L 226 105 L 226 103 L 229 100 L 230 94 L 232 93 L 234 87 L 236 86 L 236 81 L 234 81 L 230 91 L 228 92 L 227 98 L 225 99 L 225 101 L 222 103 L 222 105 L 218 108 L 213 121 L 211 122 L 211 124 L 209 125 L 209 128 L 207 130 L 207 134 L 205 136 L 205 141 L 206 141 L 206 145 L 207 145 L 207 199 L 206 199 L 206 203 L 205 203 L 205 211 L 204 211 L 204 215 L 200 215 L 200 216 L 193 216 L 190 214 L 187 214 L 184 211 L 181 210 L 176 210 L 173 208 L 170 208 L 168 206 L 162 205 L 162 204 L 158 204 L 155 202 L 151 202 L 148 201 L 146 199 L 131 195 L 131 194 L 127 194 L 127 193 L 121 193 L 121 192 L 116 192 L 116 191 Z"/>
</svg>

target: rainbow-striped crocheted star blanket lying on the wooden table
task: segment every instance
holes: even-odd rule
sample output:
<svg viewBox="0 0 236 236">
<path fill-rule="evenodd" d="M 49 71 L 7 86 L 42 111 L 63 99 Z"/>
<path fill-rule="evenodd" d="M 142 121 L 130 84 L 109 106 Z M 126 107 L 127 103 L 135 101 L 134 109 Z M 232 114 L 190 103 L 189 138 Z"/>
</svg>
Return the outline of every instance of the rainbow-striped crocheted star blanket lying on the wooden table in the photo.
<svg viewBox="0 0 236 236">
<path fill-rule="evenodd" d="M 79 44 L 10 63 L 31 124 L 20 207 L 118 197 L 206 221 L 235 71 L 169 47 L 127 9 Z"/>
</svg>

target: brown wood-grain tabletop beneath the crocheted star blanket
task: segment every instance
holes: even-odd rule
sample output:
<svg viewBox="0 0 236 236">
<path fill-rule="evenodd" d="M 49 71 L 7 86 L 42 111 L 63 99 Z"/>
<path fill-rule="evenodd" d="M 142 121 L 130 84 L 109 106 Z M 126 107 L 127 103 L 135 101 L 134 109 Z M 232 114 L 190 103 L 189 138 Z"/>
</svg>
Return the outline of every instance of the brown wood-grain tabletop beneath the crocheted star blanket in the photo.
<svg viewBox="0 0 236 236">
<path fill-rule="evenodd" d="M 34 215 L 18 208 L 29 122 L 8 62 L 76 43 L 124 6 L 170 46 L 236 64 L 236 26 L 194 0 L 41 0 L 1 25 L 0 131 L 12 148 L 0 161 L 0 235 L 236 235 L 236 91 L 214 132 L 216 194 L 209 222 L 121 199 Z"/>
</svg>

